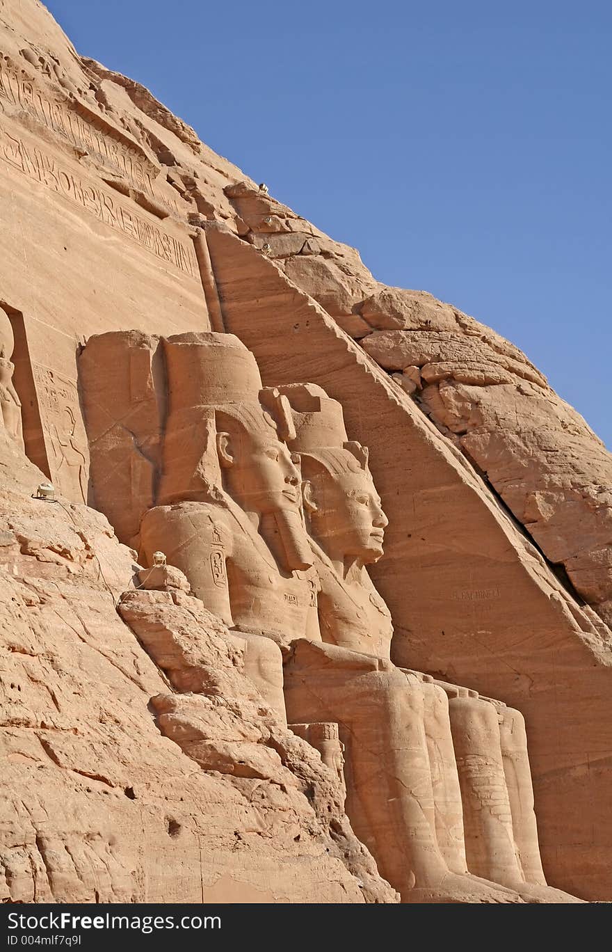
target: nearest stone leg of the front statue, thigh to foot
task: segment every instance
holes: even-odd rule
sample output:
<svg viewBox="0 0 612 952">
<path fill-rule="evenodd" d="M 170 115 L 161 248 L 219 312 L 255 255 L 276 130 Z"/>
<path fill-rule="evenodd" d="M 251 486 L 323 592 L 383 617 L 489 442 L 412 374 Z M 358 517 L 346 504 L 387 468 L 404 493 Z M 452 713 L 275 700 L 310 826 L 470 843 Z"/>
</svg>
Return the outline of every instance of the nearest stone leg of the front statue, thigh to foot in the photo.
<svg viewBox="0 0 612 952">
<path fill-rule="evenodd" d="M 346 813 L 403 902 L 521 902 L 503 886 L 452 872 L 444 862 L 419 680 L 399 668 L 312 664 L 310 651 L 308 643 L 294 644 L 286 664 L 289 723 L 339 724 Z"/>
</svg>

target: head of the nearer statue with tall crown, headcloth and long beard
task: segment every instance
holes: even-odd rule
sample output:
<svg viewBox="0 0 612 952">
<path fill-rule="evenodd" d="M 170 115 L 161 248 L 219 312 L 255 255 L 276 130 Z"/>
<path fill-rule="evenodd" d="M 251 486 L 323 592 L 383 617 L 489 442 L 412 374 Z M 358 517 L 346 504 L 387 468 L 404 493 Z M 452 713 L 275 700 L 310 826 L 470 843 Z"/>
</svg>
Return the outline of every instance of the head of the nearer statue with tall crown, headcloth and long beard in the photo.
<svg viewBox="0 0 612 952">
<path fill-rule="evenodd" d="M 308 567 L 300 472 L 285 442 L 295 436 L 286 398 L 262 387 L 253 354 L 233 334 L 179 334 L 164 346 L 168 416 L 158 504 L 221 501 L 225 492 L 278 540 L 275 554 L 286 568 Z"/>
</svg>

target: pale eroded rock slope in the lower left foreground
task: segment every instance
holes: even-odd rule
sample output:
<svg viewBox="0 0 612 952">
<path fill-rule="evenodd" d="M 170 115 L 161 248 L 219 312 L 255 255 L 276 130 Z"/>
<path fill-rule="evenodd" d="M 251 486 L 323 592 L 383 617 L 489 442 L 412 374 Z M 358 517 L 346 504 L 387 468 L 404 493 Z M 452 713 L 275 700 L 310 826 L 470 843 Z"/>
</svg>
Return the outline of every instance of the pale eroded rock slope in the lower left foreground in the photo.
<svg viewBox="0 0 612 952">
<path fill-rule="evenodd" d="M 0 497 L 2 898 L 394 902 L 244 646 L 178 589 L 123 595 L 138 566 L 105 517 L 31 499 L 23 469 Z M 179 667 L 209 694 L 173 693 Z"/>
</svg>

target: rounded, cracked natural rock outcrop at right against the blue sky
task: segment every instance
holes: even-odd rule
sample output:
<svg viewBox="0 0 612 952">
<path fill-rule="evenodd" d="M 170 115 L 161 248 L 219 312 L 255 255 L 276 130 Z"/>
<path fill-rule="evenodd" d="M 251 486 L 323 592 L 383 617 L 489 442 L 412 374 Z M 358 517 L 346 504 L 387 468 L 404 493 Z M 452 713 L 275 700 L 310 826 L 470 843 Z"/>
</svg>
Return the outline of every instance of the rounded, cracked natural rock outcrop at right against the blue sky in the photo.
<svg viewBox="0 0 612 952">
<path fill-rule="evenodd" d="M 612 622 L 612 457 L 524 354 L 423 292 L 365 300 L 361 339 L 487 477 L 587 605 Z"/>
</svg>

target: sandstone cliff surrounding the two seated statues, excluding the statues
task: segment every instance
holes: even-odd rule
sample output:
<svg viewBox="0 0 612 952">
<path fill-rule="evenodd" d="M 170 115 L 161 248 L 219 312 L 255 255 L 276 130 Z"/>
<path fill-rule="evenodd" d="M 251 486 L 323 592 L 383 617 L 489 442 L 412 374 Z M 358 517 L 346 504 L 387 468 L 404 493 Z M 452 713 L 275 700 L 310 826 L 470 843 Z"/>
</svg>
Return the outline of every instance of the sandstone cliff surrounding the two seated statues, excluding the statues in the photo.
<svg viewBox="0 0 612 952">
<path fill-rule="evenodd" d="M 249 722 L 247 684 L 242 701 L 237 683 L 222 692 L 222 739 L 266 749 L 263 776 L 194 764 L 164 736 L 160 711 L 181 711 L 115 610 L 133 559 L 94 510 L 77 345 L 211 327 L 247 344 L 265 384 L 308 379 L 343 403 L 389 516 L 372 574 L 394 659 L 523 711 L 549 882 L 609 897 L 601 441 L 516 347 L 423 291 L 380 285 L 147 89 L 80 57 L 37 0 L 0 4 L 0 135 L 0 304 L 31 461 L 5 441 L 6 894 L 394 900 L 306 745 L 297 764 L 281 727 Z M 30 499 L 33 464 L 60 503 Z M 233 664 L 214 635 L 210 657 Z"/>
</svg>

